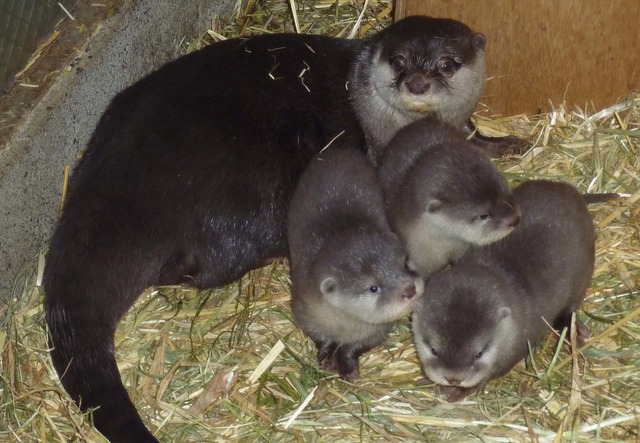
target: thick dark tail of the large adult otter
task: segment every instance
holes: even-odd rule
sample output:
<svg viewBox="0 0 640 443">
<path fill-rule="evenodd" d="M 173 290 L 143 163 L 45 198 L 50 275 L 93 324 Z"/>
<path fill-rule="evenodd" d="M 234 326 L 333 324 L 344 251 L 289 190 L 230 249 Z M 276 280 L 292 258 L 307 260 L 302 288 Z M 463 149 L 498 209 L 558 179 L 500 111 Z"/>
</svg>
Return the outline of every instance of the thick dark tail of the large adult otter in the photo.
<svg viewBox="0 0 640 443">
<path fill-rule="evenodd" d="M 104 281 L 70 273 L 73 258 L 56 252 L 50 249 L 47 257 L 44 302 L 51 358 L 62 385 L 83 411 L 93 409 L 96 429 L 111 442 L 157 442 L 129 399 L 114 354 L 116 324 L 137 293 L 133 300 L 114 296 L 129 288 L 109 288 L 105 283 L 112 279 L 99 273 L 93 275 Z"/>
</svg>

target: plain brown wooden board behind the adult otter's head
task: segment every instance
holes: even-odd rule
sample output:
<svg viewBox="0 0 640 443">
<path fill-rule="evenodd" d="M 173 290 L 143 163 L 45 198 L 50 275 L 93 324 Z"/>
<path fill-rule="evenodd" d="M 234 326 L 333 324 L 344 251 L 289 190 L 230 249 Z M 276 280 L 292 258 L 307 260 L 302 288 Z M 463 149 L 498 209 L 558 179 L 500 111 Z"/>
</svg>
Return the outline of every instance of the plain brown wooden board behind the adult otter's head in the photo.
<svg viewBox="0 0 640 443">
<path fill-rule="evenodd" d="M 503 115 L 566 98 L 602 109 L 640 89 L 638 0 L 396 0 L 396 20 L 451 17 L 487 36 L 483 103 Z"/>
</svg>

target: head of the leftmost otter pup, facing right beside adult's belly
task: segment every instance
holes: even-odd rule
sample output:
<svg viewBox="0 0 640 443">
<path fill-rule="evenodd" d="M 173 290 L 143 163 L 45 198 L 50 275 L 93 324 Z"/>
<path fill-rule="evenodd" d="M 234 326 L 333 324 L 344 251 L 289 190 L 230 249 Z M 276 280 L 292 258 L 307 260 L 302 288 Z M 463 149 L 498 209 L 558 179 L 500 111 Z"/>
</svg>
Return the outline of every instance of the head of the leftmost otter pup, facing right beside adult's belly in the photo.
<svg viewBox="0 0 640 443">
<path fill-rule="evenodd" d="M 313 281 L 330 306 L 365 323 L 384 324 L 408 315 L 424 284 L 406 263 L 391 232 L 353 228 L 322 248 Z"/>
</svg>

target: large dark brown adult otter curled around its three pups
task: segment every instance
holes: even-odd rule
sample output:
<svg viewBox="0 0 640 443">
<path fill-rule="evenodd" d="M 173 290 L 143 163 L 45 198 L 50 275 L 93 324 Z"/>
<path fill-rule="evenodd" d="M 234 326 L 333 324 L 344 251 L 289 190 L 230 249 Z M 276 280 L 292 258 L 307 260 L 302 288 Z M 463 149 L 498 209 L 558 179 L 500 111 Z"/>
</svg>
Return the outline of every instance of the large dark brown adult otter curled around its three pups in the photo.
<svg viewBox="0 0 640 443">
<path fill-rule="evenodd" d="M 71 397 L 97 408 L 96 428 L 111 441 L 155 441 L 114 357 L 116 324 L 143 289 L 221 286 L 286 255 L 289 199 L 311 158 L 340 133 L 374 158 L 439 107 L 460 124 L 481 89 L 483 49 L 481 34 L 429 17 L 362 40 L 237 38 L 117 95 L 71 176 L 44 274 L 53 364 Z M 436 107 L 415 105 L 438 89 L 420 86 L 425 72 L 456 86 Z M 363 98 L 383 90 L 377 128 Z"/>
</svg>

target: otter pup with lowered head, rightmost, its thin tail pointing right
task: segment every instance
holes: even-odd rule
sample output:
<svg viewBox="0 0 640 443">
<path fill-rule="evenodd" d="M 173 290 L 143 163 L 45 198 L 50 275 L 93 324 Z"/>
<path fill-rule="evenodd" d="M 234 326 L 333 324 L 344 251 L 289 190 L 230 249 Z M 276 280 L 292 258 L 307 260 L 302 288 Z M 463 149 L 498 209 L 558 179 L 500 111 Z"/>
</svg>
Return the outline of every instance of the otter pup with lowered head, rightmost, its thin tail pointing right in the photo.
<svg viewBox="0 0 640 443">
<path fill-rule="evenodd" d="M 595 234 L 583 196 L 548 181 L 526 182 L 513 194 L 522 209 L 513 232 L 434 274 L 416 303 L 418 357 L 449 401 L 509 372 L 548 330 L 545 320 L 570 327 L 591 281 Z M 576 332 L 584 343 L 586 327 Z"/>
</svg>

